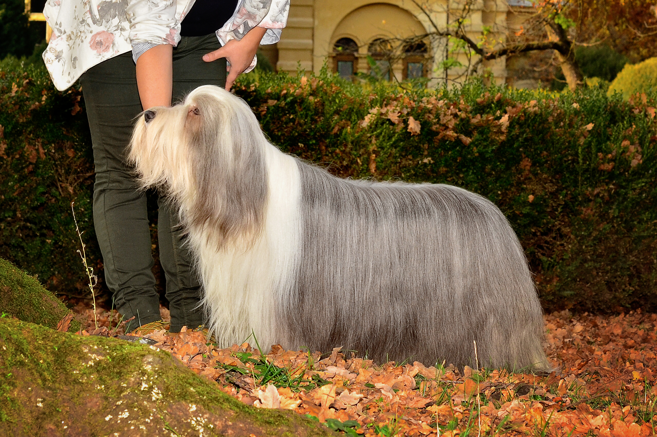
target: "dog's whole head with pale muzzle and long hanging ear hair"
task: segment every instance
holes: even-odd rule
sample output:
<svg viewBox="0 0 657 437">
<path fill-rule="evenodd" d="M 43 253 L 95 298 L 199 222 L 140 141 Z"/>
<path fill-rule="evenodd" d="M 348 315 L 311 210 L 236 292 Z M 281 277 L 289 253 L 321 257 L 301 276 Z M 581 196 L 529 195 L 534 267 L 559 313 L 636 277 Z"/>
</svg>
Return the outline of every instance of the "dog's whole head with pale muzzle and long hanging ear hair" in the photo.
<svg viewBox="0 0 657 437">
<path fill-rule="evenodd" d="M 141 186 L 164 189 L 190 220 L 205 226 L 219 218 L 234 222 L 231 217 L 264 201 L 267 144 L 244 100 L 204 85 L 171 108 L 143 112 L 128 159 Z M 221 226 L 235 227 L 227 222 Z"/>
</svg>

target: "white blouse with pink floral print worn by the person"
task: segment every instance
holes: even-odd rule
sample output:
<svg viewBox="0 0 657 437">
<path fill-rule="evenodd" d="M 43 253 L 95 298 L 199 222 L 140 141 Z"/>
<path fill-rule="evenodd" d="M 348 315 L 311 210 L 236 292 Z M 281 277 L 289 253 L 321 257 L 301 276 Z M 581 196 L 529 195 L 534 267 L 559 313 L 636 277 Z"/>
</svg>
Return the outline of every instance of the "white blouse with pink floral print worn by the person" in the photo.
<svg viewBox="0 0 657 437">
<path fill-rule="evenodd" d="M 177 45 L 180 22 L 194 0 L 47 0 L 43 9 L 53 28 L 43 61 L 63 91 L 89 68 L 119 54 L 140 54 L 160 44 Z M 252 28 L 266 28 L 261 44 L 279 41 L 290 0 L 239 0 L 226 24 L 217 30 L 223 45 L 242 39 Z M 246 70 L 256 66 L 256 58 Z"/>
</svg>

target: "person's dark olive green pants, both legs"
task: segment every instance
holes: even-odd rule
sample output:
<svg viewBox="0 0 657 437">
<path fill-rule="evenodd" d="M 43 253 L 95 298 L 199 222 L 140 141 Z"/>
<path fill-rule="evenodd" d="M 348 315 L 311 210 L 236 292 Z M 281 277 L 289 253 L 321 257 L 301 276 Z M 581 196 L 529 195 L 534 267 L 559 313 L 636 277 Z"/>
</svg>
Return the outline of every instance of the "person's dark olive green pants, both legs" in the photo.
<svg viewBox="0 0 657 437">
<path fill-rule="evenodd" d="M 204 62 L 219 49 L 214 35 L 182 37 L 173 49 L 173 102 L 200 85 L 225 86 L 226 60 Z M 128 320 L 126 331 L 160 320 L 160 299 L 152 273 L 146 194 L 137 189 L 125 163 L 135 117 L 142 112 L 135 63 L 130 52 L 90 68 L 80 78 L 84 94 L 96 180 L 93 220 L 101 247 L 105 281 L 114 304 Z M 158 200 L 158 244 L 170 302 L 171 331 L 204 323 L 200 283 L 191 266 L 184 231 L 175 211 Z"/>
</svg>

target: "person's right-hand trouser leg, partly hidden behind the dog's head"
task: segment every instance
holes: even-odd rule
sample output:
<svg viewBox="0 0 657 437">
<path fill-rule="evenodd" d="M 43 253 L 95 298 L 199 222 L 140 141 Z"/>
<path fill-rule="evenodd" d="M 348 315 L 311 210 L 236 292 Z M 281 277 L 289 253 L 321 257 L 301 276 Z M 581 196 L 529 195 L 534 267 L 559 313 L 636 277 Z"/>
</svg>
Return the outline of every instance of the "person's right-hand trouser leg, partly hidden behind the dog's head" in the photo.
<svg viewBox="0 0 657 437">
<path fill-rule="evenodd" d="M 201 58 L 219 47 L 214 34 L 181 39 L 178 47 L 173 49 L 174 103 L 180 102 L 187 93 L 201 85 L 225 85 L 225 58 L 215 62 L 204 62 Z M 166 202 L 158 201 L 158 205 L 158 243 L 171 312 L 170 330 L 178 332 L 183 326 L 191 328 L 204 324 L 202 309 L 198 308 L 202 291 L 185 245 L 185 230 L 179 226 L 175 211 L 170 211 Z"/>
</svg>

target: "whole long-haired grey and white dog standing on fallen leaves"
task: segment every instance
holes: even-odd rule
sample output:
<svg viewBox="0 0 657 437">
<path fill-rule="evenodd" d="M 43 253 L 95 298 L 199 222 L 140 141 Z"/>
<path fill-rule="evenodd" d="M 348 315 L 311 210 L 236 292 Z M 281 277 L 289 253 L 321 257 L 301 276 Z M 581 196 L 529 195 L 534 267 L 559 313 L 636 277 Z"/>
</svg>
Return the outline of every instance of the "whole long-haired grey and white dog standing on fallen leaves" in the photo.
<svg viewBox="0 0 657 437">
<path fill-rule="evenodd" d="M 342 346 L 379 362 L 549 369 L 502 213 L 455 186 L 333 177 L 267 141 L 219 87 L 154 108 L 129 159 L 179 207 L 222 345 Z"/>
</svg>

